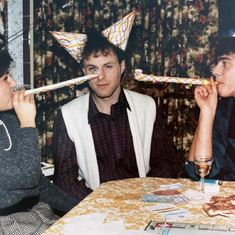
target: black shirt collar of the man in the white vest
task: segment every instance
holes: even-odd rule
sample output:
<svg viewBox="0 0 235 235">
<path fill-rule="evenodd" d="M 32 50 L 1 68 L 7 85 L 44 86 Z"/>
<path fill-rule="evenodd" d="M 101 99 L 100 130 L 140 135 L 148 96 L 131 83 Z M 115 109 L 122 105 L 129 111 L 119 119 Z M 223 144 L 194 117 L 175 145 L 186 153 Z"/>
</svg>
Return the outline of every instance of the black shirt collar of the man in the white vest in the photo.
<svg viewBox="0 0 235 235">
<path fill-rule="evenodd" d="M 120 92 L 120 95 L 119 95 L 119 99 L 118 99 L 118 102 L 116 104 L 123 104 L 124 107 L 128 108 L 130 111 L 131 111 L 131 108 L 130 108 L 130 105 L 127 101 L 127 98 L 126 98 L 126 95 L 123 91 L 123 88 L 121 88 L 121 92 Z M 116 105 L 114 104 L 114 105 Z M 93 119 L 93 117 L 95 115 L 98 115 L 100 114 L 98 108 L 96 107 L 96 104 L 94 102 L 94 100 L 92 99 L 92 96 L 91 96 L 91 92 L 90 92 L 90 95 L 89 95 L 89 110 L 88 110 L 88 123 L 91 122 L 91 120 Z"/>
</svg>

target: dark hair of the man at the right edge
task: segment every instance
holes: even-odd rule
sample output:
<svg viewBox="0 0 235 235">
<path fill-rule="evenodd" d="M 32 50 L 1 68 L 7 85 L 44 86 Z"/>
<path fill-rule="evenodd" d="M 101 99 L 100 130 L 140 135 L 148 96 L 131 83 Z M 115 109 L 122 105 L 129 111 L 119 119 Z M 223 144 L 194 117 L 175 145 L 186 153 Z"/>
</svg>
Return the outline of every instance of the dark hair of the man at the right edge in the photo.
<svg viewBox="0 0 235 235">
<path fill-rule="evenodd" d="M 215 58 L 235 53 L 235 37 L 221 38 L 215 48 Z"/>
</svg>

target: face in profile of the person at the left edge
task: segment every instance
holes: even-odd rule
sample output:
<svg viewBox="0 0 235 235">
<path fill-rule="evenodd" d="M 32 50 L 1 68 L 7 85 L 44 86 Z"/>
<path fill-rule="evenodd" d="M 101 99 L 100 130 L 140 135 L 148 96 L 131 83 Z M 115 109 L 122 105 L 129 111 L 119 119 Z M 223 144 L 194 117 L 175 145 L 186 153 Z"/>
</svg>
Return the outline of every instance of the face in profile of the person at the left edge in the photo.
<svg viewBox="0 0 235 235">
<path fill-rule="evenodd" d="M 13 108 L 13 88 L 15 80 L 7 73 L 0 77 L 0 111 Z"/>
</svg>

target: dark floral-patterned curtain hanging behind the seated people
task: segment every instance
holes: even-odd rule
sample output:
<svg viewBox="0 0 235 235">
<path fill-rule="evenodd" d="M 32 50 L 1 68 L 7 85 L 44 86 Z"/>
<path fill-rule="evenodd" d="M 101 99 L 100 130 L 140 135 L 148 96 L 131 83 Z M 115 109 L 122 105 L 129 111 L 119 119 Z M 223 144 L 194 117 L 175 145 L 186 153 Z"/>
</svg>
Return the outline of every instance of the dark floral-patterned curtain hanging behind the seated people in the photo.
<svg viewBox="0 0 235 235">
<path fill-rule="evenodd" d="M 123 86 L 161 96 L 166 128 L 183 169 L 197 125 L 194 87 L 137 82 L 133 75 L 138 68 L 158 76 L 209 78 L 218 40 L 217 0 L 34 1 L 35 87 L 83 76 L 80 65 L 60 47 L 50 31 L 102 31 L 135 9 Z M 36 96 L 44 161 L 52 161 L 52 128 L 58 109 L 84 88 L 85 85 L 75 85 Z"/>
</svg>

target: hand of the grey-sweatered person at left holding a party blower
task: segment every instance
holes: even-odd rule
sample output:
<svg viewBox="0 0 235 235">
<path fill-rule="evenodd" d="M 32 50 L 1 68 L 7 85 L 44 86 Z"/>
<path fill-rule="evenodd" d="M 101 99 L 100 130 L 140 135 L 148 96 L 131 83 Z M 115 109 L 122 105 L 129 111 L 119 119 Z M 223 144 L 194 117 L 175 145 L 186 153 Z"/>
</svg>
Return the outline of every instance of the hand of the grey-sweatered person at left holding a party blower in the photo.
<svg viewBox="0 0 235 235">
<path fill-rule="evenodd" d="M 13 107 L 20 121 L 20 127 L 36 127 L 35 101 L 30 96 L 25 95 L 25 89 L 15 92 Z"/>
</svg>

